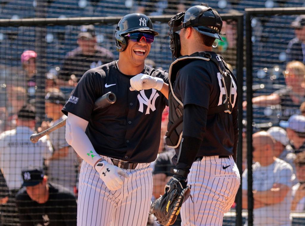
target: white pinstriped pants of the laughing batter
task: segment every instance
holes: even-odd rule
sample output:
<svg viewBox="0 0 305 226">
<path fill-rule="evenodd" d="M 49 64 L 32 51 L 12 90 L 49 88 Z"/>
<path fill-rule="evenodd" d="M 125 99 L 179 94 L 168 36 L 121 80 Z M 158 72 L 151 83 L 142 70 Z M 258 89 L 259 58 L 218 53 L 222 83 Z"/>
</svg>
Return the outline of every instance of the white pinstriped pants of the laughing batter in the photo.
<svg viewBox="0 0 305 226">
<path fill-rule="evenodd" d="M 109 157 L 104 157 L 112 164 Z M 152 198 L 152 168 L 139 163 L 125 170 L 130 178 L 110 191 L 99 173 L 85 161 L 79 178 L 77 226 L 146 226 Z"/>
</svg>

